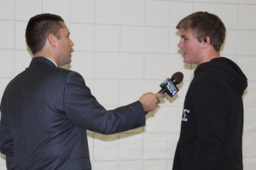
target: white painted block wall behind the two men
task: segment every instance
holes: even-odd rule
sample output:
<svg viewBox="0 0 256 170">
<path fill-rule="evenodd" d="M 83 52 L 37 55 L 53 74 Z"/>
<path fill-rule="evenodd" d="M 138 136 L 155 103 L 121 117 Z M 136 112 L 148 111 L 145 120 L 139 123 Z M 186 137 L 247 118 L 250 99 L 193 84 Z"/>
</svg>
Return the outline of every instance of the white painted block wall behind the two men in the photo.
<svg viewBox="0 0 256 170">
<path fill-rule="evenodd" d="M 95 170 L 171 170 L 183 100 L 195 65 L 183 63 L 175 26 L 195 11 L 218 14 L 227 28 L 221 55 L 234 60 L 248 78 L 244 94 L 244 169 L 256 163 L 255 0 L 0 0 L 0 95 L 30 63 L 27 21 L 35 14 L 59 14 L 71 32 L 73 61 L 92 94 L 107 109 L 157 92 L 176 71 L 180 92 L 162 99 L 147 115 L 147 126 L 113 135 L 88 132 Z M 0 169 L 5 157 L 1 155 Z"/>
</svg>

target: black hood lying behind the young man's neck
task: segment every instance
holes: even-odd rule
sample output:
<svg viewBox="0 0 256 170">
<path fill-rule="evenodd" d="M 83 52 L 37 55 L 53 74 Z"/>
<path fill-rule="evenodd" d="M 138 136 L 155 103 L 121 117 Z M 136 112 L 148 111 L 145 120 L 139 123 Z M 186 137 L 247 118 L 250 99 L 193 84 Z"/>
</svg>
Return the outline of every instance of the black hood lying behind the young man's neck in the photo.
<svg viewBox="0 0 256 170">
<path fill-rule="evenodd" d="M 218 73 L 220 77 L 224 77 L 224 80 L 230 84 L 230 87 L 239 96 L 242 96 L 244 90 L 247 88 L 247 77 L 243 74 L 239 66 L 230 59 L 220 57 L 198 65 L 195 75 L 201 71 L 214 71 Z"/>
</svg>

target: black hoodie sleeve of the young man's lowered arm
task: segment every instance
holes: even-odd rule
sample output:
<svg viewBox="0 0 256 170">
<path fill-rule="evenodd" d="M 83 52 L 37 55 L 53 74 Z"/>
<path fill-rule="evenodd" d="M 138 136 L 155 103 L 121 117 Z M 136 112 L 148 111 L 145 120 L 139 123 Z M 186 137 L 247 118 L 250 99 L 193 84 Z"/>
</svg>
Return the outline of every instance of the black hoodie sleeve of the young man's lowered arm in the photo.
<svg viewBox="0 0 256 170">
<path fill-rule="evenodd" d="M 192 93 L 198 129 L 196 170 L 216 169 L 223 152 L 227 96 L 219 82 L 200 82 Z"/>
</svg>

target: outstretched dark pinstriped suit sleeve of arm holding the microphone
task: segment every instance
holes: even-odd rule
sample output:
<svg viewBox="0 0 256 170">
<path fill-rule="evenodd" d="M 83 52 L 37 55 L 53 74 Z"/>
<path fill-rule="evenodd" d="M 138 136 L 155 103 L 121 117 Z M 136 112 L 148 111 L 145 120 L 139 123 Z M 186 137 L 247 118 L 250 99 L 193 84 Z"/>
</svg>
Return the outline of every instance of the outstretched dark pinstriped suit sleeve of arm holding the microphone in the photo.
<svg viewBox="0 0 256 170">
<path fill-rule="evenodd" d="M 64 110 L 78 127 L 110 134 L 145 125 L 145 112 L 141 102 L 106 111 L 77 72 L 71 71 L 68 74 L 64 91 Z"/>
</svg>

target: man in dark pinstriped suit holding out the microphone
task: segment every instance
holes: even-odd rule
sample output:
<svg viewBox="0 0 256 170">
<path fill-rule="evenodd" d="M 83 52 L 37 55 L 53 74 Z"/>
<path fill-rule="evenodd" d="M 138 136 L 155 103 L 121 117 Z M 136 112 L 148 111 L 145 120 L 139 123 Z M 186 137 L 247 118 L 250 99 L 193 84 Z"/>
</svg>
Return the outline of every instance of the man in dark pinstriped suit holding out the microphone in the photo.
<svg viewBox="0 0 256 170">
<path fill-rule="evenodd" d="M 74 44 L 55 14 L 32 17 L 26 43 L 35 57 L 9 82 L 0 107 L 0 146 L 8 169 L 91 169 L 84 129 L 110 134 L 142 127 L 145 112 L 165 96 L 143 94 L 106 111 L 79 73 L 59 68 L 71 62 Z"/>
</svg>

